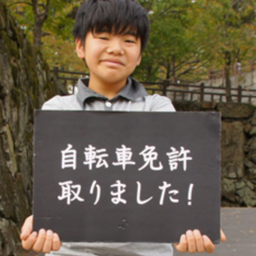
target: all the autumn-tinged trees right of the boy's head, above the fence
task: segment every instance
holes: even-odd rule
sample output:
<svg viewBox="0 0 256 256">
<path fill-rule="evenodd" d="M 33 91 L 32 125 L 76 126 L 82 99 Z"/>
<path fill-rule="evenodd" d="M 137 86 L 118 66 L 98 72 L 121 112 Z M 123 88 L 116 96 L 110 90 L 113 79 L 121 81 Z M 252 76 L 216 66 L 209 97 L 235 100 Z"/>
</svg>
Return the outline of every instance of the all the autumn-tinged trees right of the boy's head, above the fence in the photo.
<svg viewBox="0 0 256 256">
<path fill-rule="evenodd" d="M 230 100 L 231 66 L 254 56 L 254 1 L 141 2 L 149 12 L 151 37 L 136 75 L 153 80 L 200 80 L 209 66 L 221 66 Z"/>
</svg>

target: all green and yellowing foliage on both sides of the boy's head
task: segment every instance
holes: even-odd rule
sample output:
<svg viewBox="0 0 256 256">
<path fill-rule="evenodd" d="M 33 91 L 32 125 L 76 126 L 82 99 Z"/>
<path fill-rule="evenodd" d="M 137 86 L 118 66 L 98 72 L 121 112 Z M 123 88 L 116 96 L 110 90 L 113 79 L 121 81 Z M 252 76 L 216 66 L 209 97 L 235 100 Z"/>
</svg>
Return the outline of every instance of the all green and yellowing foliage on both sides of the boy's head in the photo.
<svg viewBox="0 0 256 256">
<path fill-rule="evenodd" d="M 32 0 L 31 0 L 32 1 Z M 27 3 L 31 3 L 27 0 Z M 34 14 L 30 4 L 6 1 L 32 40 Z M 45 4 L 46 0 L 38 0 Z M 82 1 L 51 0 L 43 24 L 42 51 L 48 64 L 87 71 L 74 51 L 75 12 Z M 139 0 L 147 9 L 151 35 L 141 65 L 140 80 L 195 81 L 207 69 L 255 60 L 254 0 Z M 16 4 L 15 4 L 16 3 Z"/>
</svg>

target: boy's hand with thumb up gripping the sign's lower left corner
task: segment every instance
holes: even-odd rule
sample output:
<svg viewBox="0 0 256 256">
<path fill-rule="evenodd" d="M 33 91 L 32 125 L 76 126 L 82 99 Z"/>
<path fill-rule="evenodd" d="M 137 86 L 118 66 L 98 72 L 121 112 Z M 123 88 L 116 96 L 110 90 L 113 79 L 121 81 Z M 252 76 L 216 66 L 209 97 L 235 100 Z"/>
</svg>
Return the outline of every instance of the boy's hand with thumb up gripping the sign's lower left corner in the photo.
<svg viewBox="0 0 256 256">
<path fill-rule="evenodd" d="M 21 228 L 21 244 L 25 250 L 33 249 L 35 252 L 42 251 L 43 253 L 49 253 L 51 251 L 58 251 L 62 242 L 60 242 L 57 233 L 53 233 L 51 230 L 41 229 L 38 232 L 32 232 L 33 216 L 26 218 L 23 227 Z"/>
</svg>

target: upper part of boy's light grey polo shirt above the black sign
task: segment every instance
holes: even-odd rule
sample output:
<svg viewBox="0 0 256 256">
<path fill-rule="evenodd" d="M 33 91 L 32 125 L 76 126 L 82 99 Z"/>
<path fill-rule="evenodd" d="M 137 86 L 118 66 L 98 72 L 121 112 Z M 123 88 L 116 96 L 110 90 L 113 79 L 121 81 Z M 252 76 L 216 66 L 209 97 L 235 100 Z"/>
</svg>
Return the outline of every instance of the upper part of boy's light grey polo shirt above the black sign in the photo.
<svg viewBox="0 0 256 256">
<path fill-rule="evenodd" d="M 169 98 L 158 94 L 148 95 L 145 88 L 132 77 L 112 99 L 88 88 L 88 79 L 79 79 L 78 91 L 69 96 L 55 96 L 43 104 L 47 110 L 107 110 L 107 111 L 160 111 L 174 112 Z"/>
</svg>

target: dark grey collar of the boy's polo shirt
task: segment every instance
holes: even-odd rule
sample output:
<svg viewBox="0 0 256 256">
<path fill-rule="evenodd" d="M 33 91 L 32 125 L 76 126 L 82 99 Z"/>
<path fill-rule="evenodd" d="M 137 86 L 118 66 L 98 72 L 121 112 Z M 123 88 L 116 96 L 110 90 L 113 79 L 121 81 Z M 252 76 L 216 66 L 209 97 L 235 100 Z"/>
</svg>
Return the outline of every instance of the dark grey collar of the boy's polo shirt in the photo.
<svg viewBox="0 0 256 256">
<path fill-rule="evenodd" d="M 82 106 L 84 106 L 88 98 L 100 98 L 103 100 L 108 100 L 107 97 L 88 88 L 88 83 L 89 78 L 87 77 L 82 77 L 77 82 L 78 91 L 76 94 L 76 98 Z M 147 91 L 140 84 L 140 82 L 136 81 L 132 77 L 128 77 L 126 86 L 114 98 L 110 99 L 110 101 L 114 101 L 118 97 L 123 97 L 130 101 L 134 101 L 137 98 L 147 95 Z"/>
</svg>

